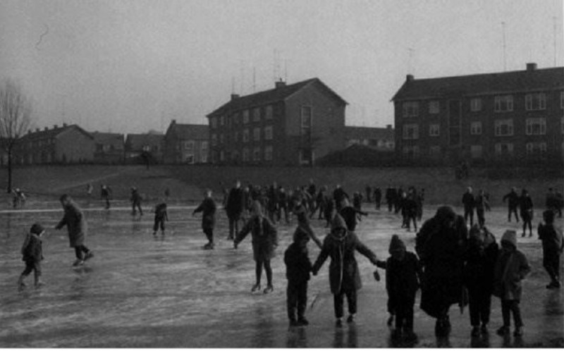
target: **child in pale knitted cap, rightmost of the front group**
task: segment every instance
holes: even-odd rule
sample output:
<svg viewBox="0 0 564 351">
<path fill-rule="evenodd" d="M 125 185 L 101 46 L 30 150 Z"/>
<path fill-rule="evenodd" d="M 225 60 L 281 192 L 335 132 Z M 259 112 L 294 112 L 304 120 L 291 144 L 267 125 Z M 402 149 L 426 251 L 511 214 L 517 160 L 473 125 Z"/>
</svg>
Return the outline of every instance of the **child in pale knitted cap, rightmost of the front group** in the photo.
<svg viewBox="0 0 564 351">
<path fill-rule="evenodd" d="M 523 335 L 523 321 L 519 303 L 522 295 L 521 281 L 529 274 L 531 267 L 525 254 L 517 250 L 517 233 L 506 230 L 501 237 L 501 253 L 494 269 L 494 295 L 501 299 L 503 326 L 498 335 L 508 335 L 513 313 L 515 336 Z"/>
</svg>

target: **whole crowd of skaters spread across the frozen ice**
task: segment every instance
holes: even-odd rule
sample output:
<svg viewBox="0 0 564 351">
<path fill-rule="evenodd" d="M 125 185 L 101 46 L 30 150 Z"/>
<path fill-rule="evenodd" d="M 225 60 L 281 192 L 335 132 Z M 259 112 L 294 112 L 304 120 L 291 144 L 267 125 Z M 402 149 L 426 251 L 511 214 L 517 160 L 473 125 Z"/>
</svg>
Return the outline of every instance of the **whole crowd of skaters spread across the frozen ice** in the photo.
<svg viewBox="0 0 564 351">
<path fill-rule="evenodd" d="M 101 187 L 102 199 L 109 209 L 111 190 L 107 185 Z M 450 332 L 449 309 L 453 304 L 461 307 L 469 304 L 472 335 L 477 336 L 488 332 L 489 316 L 491 312 L 491 297 L 501 300 L 503 325 L 498 328 L 498 334 L 508 335 L 510 332 L 510 316 L 513 315 L 514 334 L 523 333 L 522 317 L 520 315 L 520 298 L 522 286 L 520 281 L 530 271 L 527 258 L 517 249 L 517 233 L 506 230 L 500 244 L 495 236 L 486 228 L 483 211 L 489 209 L 488 195 L 481 190 L 479 195 L 472 195 L 469 187 L 463 196 L 465 214 L 460 216 L 451 207 L 439 207 L 436 214 L 417 228 L 417 221 L 422 219 L 424 189 L 417 191 L 415 187 L 403 190 L 402 187 L 388 187 L 384 196 L 379 187 L 355 192 L 352 196 L 336 185 L 332 190 L 327 186 L 317 187 L 313 180 L 308 185 L 286 190 L 276 182 L 271 185 L 259 186 L 247 184 L 243 187 L 240 181 L 235 182 L 231 189 L 222 188 L 222 207 L 228 217 L 228 240 L 233 240 L 233 247 L 238 245 L 250 234 L 253 259 L 255 260 L 255 284 L 252 293 L 271 293 L 274 290 L 271 259 L 278 246 L 276 223 L 290 222 L 290 215 L 296 216 L 297 226 L 293 233 L 293 242 L 284 254 L 286 264 L 287 311 L 290 326 L 306 326 L 309 324 L 305 317 L 307 304 L 307 282 L 310 275 L 316 276 L 326 259 L 329 265 L 329 283 L 333 294 L 333 308 L 336 326 L 343 325 L 344 304 L 348 304 L 348 323 L 355 321 L 357 313 L 357 290 L 362 287 L 360 271 L 355 258 L 359 252 L 376 267 L 386 270 L 386 290 L 388 293 L 388 325 L 395 324 L 393 338 L 417 338 L 413 331 L 413 314 L 417 290 L 422 290 L 420 308 L 436 319 L 436 335 L 448 335 Z M 503 197 L 508 202 L 508 220 L 513 214 L 517 221 L 519 216 L 515 207 L 520 207 L 520 217 L 529 228 L 532 221 L 532 201 L 526 190 L 517 196 L 515 189 Z M 470 204 L 472 196 L 472 206 Z M 548 197 L 550 196 L 550 200 Z M 465 199 L 466 197 L 466 199 Z M 386 200 L 388 211 L 402 215 L 402 228 L 410 230 L 413 223 L 416 234 L 415 252 L 407 250 L 405 243 L 398 235 L 391 237 L 388 248 L 390 257 L 386 260 L 376 258 L 376 254 L 364 245 L 355 234 L 357 224 L 362 216 L 363 200 L 374 203 L 376 209 L 381 206 L 382 199 Z M 561 199 L 561 195 L 560 195 Z M 141 197 L 137 188 L 131 187 L 132 213 L 136 209 L 142 215 Z M 70 246 L 75 250 L 74 266 L 85 264 L 94 254 L 85 246 L 87 233 L 86 221 L 82 211 L 73 199 L 63 195 L 60 199 L 64 216 L 56 226 L 68 229 Z M 539 223 L 538 235 L 542 240 L 544 254 L 544 268 L 551 278 L 546 286 L 548 289 L 560 288 L 560 255 L 564 249 L 562 231 L 554 225 L 556 214 L 561 216 L 561 204 L 558 193 L 551 190 L 547 195 L 547 210 L 543 212 L 543 221 Z M 529 213 L 530 216 L 523 216 Z M 212 190 L 206 190 L 201 204 L 192 212 L 193 215 L 202 213 L 202 230 L 207 237 L 204 249 L 214 249 L 214 228 L 219 207 L 212 197 Z M 473 213 L 478 214 L 477 223 L 473 223 Z M 525 209 L 525 212 L 523 212 Z M 154 207 L 154 235 L 160 229 L 164 235 L 164 222 L 168 220 L 166 202 Z M 310 226 L 310 220 L 317 214 L 317 219 L 323 220 L 330 232 L 324 240 L 317 235 Z M 470 223 L 467 223 L 470 220 Z M 41 237 L 44 228 L 35 223 L 27 235 L 22 247 L 25 271 L 20 276 L 18 285 L 23 287 L 24 278 L 32 271 L 35 273 L 36 285 L 41 285 L 43 259 Z M 523 236 L 525 223 L 523 226 Z M 309 260 L 307 244 L 309 240 L 320 248 L 319 256 L 312 263 Z M 262 271 L 266 273 L 266 287 L 262 289 Z M 374 278 L 379 281 L 377 269 Z M 395 323 L 394 323 L 395 322 Z"/>
</svg>

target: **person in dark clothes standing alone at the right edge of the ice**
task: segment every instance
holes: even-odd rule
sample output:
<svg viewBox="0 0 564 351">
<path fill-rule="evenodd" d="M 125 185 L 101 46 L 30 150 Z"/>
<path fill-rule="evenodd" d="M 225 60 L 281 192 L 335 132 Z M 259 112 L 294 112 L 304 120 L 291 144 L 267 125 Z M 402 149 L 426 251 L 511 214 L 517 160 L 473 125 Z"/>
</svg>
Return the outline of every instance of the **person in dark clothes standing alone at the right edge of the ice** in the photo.
<svg viewBox="0 0 564 351">
<path fill-rule="evenodd" d="M 551 278 L 551 283 L 546 285 L 547 289 L 560 288 L 560 255 L 564 250 L 562 230 L 554 226 L 554 212 L 544 211 L 544 223 L 539 223 L 539 239 L 542 240 L 542 264 L 546 273 Z"/>
</svg>

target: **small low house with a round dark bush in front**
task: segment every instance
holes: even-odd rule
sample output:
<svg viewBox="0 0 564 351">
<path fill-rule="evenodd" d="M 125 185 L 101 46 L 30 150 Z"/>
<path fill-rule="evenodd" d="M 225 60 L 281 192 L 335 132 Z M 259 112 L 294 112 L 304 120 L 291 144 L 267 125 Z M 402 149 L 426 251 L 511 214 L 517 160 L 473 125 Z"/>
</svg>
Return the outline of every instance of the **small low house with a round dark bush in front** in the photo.
<svg viewBox="0 0 564 351">
<path fill-rule="evenodd" d="M 149 157 L 152 163 L 162 163 L 164 135 L 156 133 L 128 134 L 125 138 L 125 162 L 135 164 Z"/>
</svg>

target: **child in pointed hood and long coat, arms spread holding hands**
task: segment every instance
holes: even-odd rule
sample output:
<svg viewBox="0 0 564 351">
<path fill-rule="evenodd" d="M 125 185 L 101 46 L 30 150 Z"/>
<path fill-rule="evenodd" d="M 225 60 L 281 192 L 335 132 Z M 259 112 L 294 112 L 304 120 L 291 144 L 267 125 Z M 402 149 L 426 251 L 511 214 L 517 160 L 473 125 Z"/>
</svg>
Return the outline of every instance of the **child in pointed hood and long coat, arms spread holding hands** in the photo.
<svg viewBox="0 0 564 351">
<path fill-rule="evenodd" d="M 331 222 L 331 233 L 325 237 L 323 247 L 313 265 L 312 273 L 317 275 L 327 257 L 331 257 L 329 265 L 329 284 L 333 294 L 336 326 L 343 325 L 343 297 L 347 297 L 349 323 L 355 320 L 357 313 L 357 290 L 362 287 L 355 251 L 367 257 L 376 265 L 376 254 L 358 239 L 355 233 L 346 228 L 345 220 L 336 214 Z"/>
</svg>

